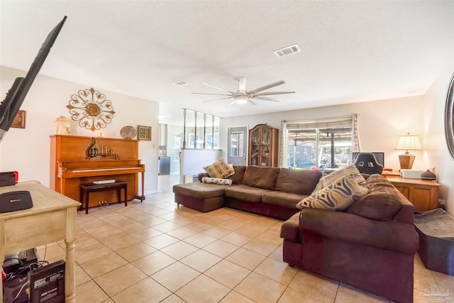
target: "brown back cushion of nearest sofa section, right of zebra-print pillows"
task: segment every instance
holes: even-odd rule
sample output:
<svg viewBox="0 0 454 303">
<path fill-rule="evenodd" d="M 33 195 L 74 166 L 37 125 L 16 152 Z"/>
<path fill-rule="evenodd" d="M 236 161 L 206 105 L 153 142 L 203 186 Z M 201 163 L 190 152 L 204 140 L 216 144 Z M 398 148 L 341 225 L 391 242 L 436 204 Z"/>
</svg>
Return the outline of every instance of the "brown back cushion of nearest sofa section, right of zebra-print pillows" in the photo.
<svg viewBox="0 0 454 303">
<path fill-rule="evenodd" d="M 369 192 L 353 203 L 347 211 L 369 219 L 393 219 L 402 207 L 403 195 L 382 175 L 371 175 L 363 186 L 369 189 Z"/>
</svg>

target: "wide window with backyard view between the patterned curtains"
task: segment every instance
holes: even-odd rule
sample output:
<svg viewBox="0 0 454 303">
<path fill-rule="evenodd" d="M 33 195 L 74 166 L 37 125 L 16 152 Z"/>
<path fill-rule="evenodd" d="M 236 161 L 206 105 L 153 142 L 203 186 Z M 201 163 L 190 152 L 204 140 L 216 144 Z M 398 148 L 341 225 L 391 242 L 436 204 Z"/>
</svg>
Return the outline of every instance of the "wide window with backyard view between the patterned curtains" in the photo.
<svg viewBox="0 0 454 303">
<path fill-rule="evenodd" d="M 287 167 L 332 170 L 351 162 L 351 117 L 333 120 L 287 123 Z"/>
</svg>

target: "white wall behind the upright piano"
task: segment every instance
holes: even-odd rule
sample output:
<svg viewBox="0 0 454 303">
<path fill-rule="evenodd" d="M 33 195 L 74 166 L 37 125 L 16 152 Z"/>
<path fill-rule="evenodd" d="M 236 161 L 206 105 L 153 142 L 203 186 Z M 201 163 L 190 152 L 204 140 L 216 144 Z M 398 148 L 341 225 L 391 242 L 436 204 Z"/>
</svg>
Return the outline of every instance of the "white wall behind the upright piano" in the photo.
<svg viewBox="0 0 454 303">
<path fill-rule="evenodd" d="M 0 66 L 0 94 L 6 92 L 16 77 L 26 72 Z M 26 128 L 10 128 L 0 142 L 0 171 L 17 170 L 19 181 L 38 180 L 49 186 L 50 182 L 50 138 L 55 133 L 54 121 L 58 116 L 67 116 L 66 108 L 72 94 L 80 89 L 90 89 L 90 84 L 78 84 L 43 75 L 38 75 L 31 86 L 21 109 L 26 111 Z M 114 119 L 102 128 L 106 138 L 121 138 L 123 126 L 151 126 L 152 141 L 139 142 L 139 158 L 145 164 L 145 194 L 157 192 L 157 153 L 159 138 L 158 111 L 156 102 L 106 91 L 95 90 L 106 95 L 114 106 Z M 71 135 L 99 136 L 100 131 L 90 131 L 71 122 Z"/>
</svg>

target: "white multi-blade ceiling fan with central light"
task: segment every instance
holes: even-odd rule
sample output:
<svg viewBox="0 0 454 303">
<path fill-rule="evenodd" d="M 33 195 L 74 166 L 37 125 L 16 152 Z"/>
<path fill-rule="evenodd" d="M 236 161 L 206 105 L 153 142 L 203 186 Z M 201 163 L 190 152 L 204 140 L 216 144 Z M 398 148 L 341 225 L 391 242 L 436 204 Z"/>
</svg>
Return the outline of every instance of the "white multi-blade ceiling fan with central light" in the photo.
<svg viewBox="0 0 454 303">
<path fill-rule="evenodd" d="M 228 105 L 231 105 L 234 103 L 246 104 L 248 102 L 250 104 L 256 105 L 252 99 L 279 102 L 279 101 L 281 101 L 281 99 L 268 98 L 268 97 L 264 97 L 264 96 L 268 96 L 268 95 L 272 95 L 272 94 L 294 94 L 295 91 L 282 91 L 282 92 L 262 92 L 262 91 L 264 91 L 266 89 L 270 89 L 272 87 L 277 87 L 278 85 L 281 85 L 284 83 L 285 82 L 281 80 L 281 81 L 277 81 L 277 82 L 274 82 L 271 84 L 267 84 L 263 87 L 258 87 L 257 89 L 247 91 L 246 90 L 246 78 L 239 77 L 238 78 L 239 89 L 236 92 L 232 92 L 228 89 L 223 89 L 221 87 L 215 87 L 214 85 L 204 83 L 205 85 L 208 85 L 209 87 L 214 87 L 215 89 L 221 89 L 224 92 L 228 92 L 228 94 L 213 94 L 213 95 L 217 95 L 217 96 L 228 96 L 228 97 L 206 100 L 204 102 L 216 101 L 216 100 L 222 100 L 222 99 L 231 99 L 231 98 L 233 98 L 233 101 Z M 193 92 L 192 94 L 210 94 L 210 93 Z"/>
</svg>

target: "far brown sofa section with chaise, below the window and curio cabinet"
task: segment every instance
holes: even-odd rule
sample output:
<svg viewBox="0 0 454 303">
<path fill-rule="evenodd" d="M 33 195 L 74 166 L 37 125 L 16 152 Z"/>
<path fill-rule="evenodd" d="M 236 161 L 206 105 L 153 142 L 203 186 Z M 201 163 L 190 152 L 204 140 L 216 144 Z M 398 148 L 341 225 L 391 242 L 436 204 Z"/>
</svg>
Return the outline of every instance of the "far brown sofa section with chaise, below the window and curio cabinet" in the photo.
<svg viewBox="0 0 454 303">
<path fill-rule="evenodd" d="M 199 211 L 228 206 L 287 220 L 299 212 L 296 204 L 308 197 L 321 178 L 320 170 L 233 166 L 231 185 L 192 182 L 173 187 L 175 202 Z M 208 176 L 199 174 L 199 180 Z"/>
</svg>

